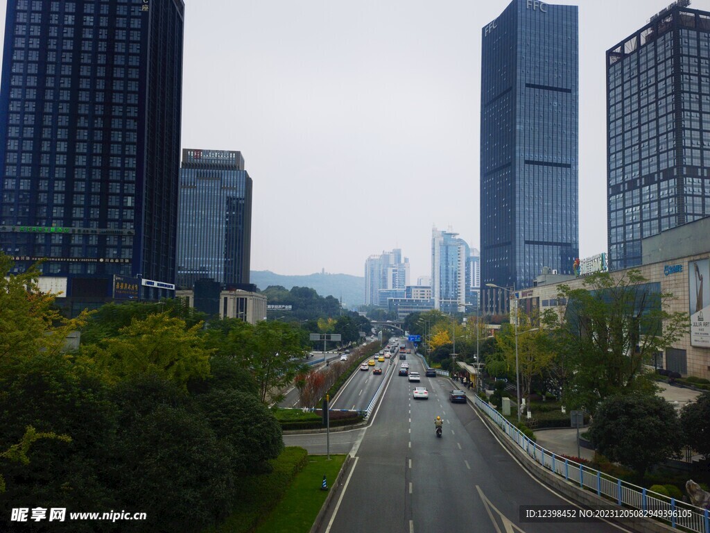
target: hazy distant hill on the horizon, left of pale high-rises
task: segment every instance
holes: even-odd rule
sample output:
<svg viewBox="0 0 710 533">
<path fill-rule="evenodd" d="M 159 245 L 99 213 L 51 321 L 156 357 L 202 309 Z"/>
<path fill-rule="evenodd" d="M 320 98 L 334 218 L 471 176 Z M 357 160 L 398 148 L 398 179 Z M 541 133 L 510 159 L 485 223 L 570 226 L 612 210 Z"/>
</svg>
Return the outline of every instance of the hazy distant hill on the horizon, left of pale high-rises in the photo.
<svg viewBox="0 0 710 533">
<path fill-rule="evenodd" d="M 280 285 L 289 290 L 293 287 L 310 287 L 319 296 L 343 298 L 349 308 L 365 303 L 365 278 L 350 274 L 310 274 L 309 276 L 282 276 L 268 270 L 250 271 L 249 281 L 262 291 L 268 286 Z"/>
</svg>

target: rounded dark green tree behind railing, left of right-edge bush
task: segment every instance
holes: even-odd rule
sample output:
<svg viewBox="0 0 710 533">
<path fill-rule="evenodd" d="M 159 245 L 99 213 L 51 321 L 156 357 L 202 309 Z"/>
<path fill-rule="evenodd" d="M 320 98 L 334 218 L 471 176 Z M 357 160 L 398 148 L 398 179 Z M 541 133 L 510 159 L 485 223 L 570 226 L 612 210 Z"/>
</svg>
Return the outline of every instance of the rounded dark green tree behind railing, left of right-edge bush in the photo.
<svg viewBox="0 0 710 533">
<path fill-rule="evenodd" d="M 682 440 L 672 405 L 647 394 L 604 399 L 589 435 L 599 453 L 633 468 L 640 478 L 652 465 L 679 455 Z"/>
</svg>

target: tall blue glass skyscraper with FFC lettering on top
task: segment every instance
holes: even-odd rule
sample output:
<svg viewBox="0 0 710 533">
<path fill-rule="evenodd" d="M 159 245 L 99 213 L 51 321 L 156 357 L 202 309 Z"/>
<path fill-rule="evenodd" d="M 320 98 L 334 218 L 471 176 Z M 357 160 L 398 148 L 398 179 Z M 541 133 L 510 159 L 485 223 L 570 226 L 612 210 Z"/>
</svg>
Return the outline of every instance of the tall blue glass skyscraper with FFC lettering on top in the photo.
<svg viewBox="0 0 710 533">
<path fill-rule="evenodd" d="M 577 211 L 577 6 L 513 0 L 481 31 L 481 294 L 572 272 Z"/>
</svg>

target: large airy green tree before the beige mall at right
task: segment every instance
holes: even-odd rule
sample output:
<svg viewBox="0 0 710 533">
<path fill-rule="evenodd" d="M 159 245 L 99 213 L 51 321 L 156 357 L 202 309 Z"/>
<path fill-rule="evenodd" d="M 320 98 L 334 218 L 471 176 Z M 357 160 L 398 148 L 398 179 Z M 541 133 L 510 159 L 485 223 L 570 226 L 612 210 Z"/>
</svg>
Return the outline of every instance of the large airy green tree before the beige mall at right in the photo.
<svg viewBox="0 0 710 533">
<path fill-rule="evenodd" d="M 615 394 L 655 387 L 643 366 L 687 330 L 687 313 L 666 311 L 671 294 L 657 291 L 638 270 L 600 272 L 584 278 L 581 289 L 562 285 L 562 316 L 548 312 L 547 328 L 558 328 L 555 349 L 564 367 L 564 402 L 594 413 Z"/>
</svg>

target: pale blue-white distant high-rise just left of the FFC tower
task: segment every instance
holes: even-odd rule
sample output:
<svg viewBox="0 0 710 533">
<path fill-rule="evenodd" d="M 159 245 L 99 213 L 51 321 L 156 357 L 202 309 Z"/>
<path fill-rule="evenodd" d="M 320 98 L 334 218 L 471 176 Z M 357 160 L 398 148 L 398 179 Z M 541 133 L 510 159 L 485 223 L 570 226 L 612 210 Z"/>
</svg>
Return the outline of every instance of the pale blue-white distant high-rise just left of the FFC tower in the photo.
<svg viewBox="0 0 710 533">
<path fill-rule="evenodd" d="M 444 313 L 466 311 L 466 260 L 469 245 L 451 230 L 432 229 L 432 298 Z"/>
</svg>

